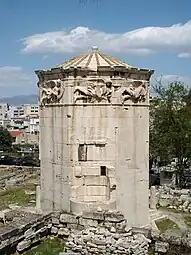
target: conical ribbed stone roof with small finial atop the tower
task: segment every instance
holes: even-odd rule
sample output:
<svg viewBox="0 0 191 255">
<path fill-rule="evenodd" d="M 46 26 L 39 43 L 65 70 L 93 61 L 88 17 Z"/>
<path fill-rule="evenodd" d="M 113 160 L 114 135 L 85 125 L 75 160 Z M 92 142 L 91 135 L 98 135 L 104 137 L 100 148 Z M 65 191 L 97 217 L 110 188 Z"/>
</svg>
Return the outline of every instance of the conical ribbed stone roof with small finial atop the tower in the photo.
<svg viewBox="0 0 191 255">
<path fill-rule="evenodd" d="M 96 46 L 92 47 L 92 52 L 86 55 L 77 56 L 72 58 L 63 64 L 57 66 L 58 68 L 62 68 L 64 70 L 71 68 L 81 68 L 81 69 L 89 69 L 92 71 L 97 71 L 100 67 L 106 68 L 125 68 L 131 69 L 132 66 L 112 57 L 105 55 L 99 52 Z"/>
</svg>

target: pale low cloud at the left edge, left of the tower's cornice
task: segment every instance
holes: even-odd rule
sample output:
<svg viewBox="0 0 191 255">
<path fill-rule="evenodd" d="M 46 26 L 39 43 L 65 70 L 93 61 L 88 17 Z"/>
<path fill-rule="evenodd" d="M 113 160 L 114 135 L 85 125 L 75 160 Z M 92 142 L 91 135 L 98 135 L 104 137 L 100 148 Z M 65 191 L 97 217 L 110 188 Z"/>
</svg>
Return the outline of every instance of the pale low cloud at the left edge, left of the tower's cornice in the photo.
<svg viewBox="0 0 191 255">
<path fill-rule="evenodd" d="M 19 66 L 0 66 L 0 87 L 32 83 L 32 77 Z"/>
</svg>

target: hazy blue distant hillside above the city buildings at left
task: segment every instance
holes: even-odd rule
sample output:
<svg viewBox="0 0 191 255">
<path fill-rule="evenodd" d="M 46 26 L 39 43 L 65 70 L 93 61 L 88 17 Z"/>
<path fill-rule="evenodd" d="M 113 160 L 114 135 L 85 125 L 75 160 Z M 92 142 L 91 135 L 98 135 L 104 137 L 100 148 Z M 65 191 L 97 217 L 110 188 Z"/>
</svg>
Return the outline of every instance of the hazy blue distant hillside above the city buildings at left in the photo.
<svg viewBox="0 0 191 255">
<path fill-rule="evenodd" d="M 3 97 L 0 98 L 0 103 L 8 103 L 9 105 L 37 104 L 37 95 L 20 95 L 14 97 Z"/>
</svg>

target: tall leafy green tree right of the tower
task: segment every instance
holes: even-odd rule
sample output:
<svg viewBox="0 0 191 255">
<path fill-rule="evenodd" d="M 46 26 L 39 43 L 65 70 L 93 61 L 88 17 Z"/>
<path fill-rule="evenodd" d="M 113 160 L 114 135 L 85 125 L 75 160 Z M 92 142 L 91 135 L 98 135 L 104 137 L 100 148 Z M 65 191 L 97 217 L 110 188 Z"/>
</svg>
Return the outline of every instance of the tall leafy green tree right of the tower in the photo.
<svg viewBox="0 0 191 255">
<path fill-rule="evenodd" d="M 156 98 L 150 108 L 150 158 L 160 164 L 177 159 L 177 185 L 183 184 L 184 171 L 191 159 L 191 92 L 181 82 L 167 87 L 154 86 Z"/>
</svg>

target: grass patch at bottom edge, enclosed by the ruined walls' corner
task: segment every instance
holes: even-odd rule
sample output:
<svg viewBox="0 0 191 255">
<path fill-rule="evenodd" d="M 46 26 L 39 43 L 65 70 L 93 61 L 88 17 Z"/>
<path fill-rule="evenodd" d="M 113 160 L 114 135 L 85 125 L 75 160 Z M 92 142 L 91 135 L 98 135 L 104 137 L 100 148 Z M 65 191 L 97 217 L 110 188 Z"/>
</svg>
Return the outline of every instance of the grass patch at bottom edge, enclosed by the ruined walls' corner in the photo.
<svg viewBox="0 0 191 255">
<path fill-rule="evenodd" d="M 64 250 L 64 241 L 59 238 L 46 238 L 37 247 L 26 251 L 23 255 L 58 255 Z M 16 255 L 16 254 L 14 254 Z"/>
</svg>

